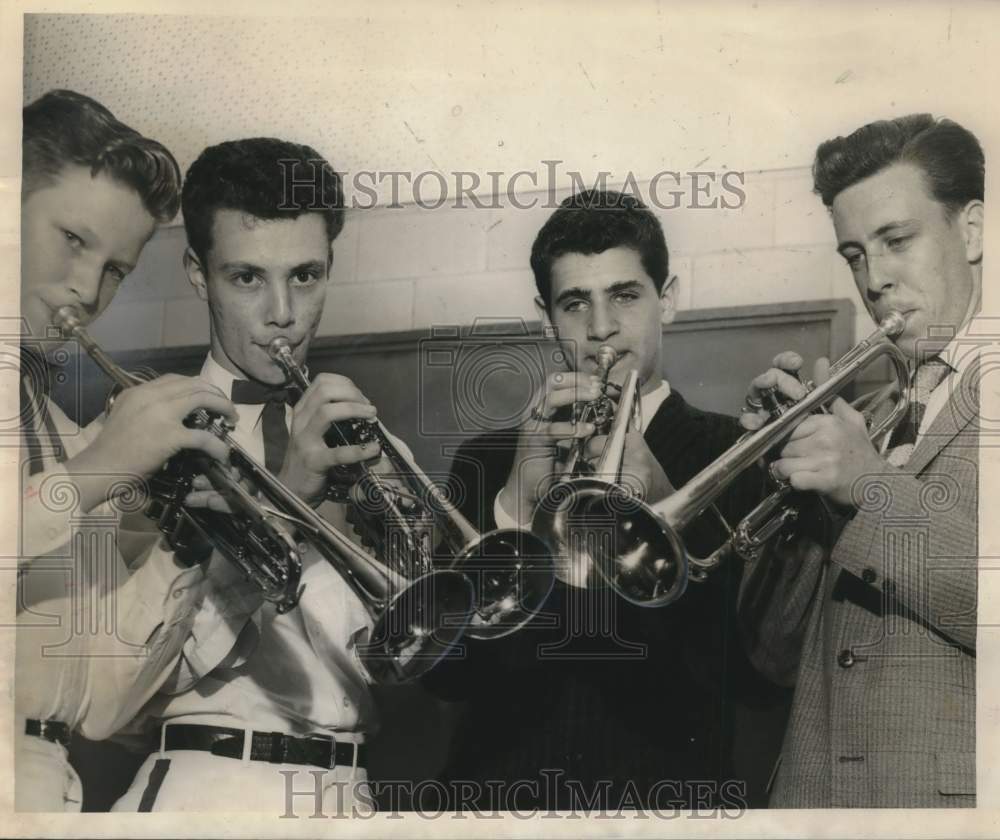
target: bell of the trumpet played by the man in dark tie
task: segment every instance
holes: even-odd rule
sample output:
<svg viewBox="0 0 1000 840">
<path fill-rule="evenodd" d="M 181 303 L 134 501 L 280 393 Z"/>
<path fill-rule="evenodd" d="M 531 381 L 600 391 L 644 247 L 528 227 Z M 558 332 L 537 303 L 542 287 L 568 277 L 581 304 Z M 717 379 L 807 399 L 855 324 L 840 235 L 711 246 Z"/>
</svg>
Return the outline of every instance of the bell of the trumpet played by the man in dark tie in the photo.
<svg viewBox="0 0 1000 840">
<path fill-rule="evenodd" d="M 552 551 L 530 531 L 488 531 L 468 545 L 455 568 L 471 580 L 476 608 L 466 635 L 497 639 L 519 630 L 542 608 L 555 584 Z"/>
</svg>

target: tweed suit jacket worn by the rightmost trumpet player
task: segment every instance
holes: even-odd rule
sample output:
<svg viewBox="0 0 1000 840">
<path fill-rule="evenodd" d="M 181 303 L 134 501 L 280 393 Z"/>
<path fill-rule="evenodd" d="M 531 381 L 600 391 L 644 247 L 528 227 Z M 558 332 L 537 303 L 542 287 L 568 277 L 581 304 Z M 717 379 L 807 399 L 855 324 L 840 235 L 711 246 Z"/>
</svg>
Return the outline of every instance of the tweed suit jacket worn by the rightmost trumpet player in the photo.
<svg viewBox="0 0 1000 840">
<path fill-rule="evenodd" d="M 859 482 L 832 551 L 798 538 L 744 575 L 751 659 L 795 683 L 771 807 L 975 805 L 977 378 Z"/>
</svg>

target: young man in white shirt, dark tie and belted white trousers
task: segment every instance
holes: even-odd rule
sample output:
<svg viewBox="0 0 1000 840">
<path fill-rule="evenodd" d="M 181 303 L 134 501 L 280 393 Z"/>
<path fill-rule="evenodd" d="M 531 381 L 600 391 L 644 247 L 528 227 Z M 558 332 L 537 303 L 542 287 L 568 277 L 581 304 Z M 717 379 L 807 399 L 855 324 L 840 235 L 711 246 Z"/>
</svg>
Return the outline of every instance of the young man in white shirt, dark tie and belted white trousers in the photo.
<svg viewBox="0 0 1000 840">
<path fill-rule="evenodd" d="M 296 195 L 310 202 L 290 205 Z M 318 506 L 333 467 L 379 455 L 376 444 L 331 448 L 324 433 L 335 421 L 372 419 L 375 409 L 330 373 L 300 396 L 268 348 L 284 338 L 305 363 L 343 226 L 340 177 L 308 146 L 221 143 L 188 170 L 182 209 L 184 265 L 210 316 L 201 377 L 239 407 L 236 441 Z M 214 505 L 218 497 L 201 486 L 189 501 Z M 324 513 L 350 530 L 343 506 Z M 151 734 L 156 749 L 115 810 L 281 815 L 291 802 L 296 812 L 322 806 L 332 815 L 370 805 L 355 793 L 375 726 L 358 659 L 372 621 L 319 555 L 304 550 L 303 567 L 301 599 L 284 614 L 219 569 L 225 579 L 206 596 L 173 680 L 133 727 Z M 300 795 L 293 801 L 290 791 Z"/>
</svg>

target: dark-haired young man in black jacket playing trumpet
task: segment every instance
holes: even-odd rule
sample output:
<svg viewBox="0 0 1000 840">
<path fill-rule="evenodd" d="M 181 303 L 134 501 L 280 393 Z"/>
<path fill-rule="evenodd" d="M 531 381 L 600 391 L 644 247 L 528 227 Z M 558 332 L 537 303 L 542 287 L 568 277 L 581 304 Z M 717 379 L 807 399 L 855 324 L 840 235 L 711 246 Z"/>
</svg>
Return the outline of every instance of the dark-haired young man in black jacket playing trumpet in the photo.
<svg viewBox="0 0 1000 840">
<path fill-rule="evenodd" d="M 604 345 L 616 352 L 612 385 L 638 373 L 642 428 L 627 435 L 623 472 L 644 498 L 670 493 L 735 442 L 734 418 L 694 408 L 663 379 L 662 330 L 676 288 L 660 224 L 637 199 L 598 190 L 566 199 L 539 231 L 531 267 L 538 311 L 556 330 L 567 370 L 548 378 L 520 428 L 457 453 L 452 480 L 470 519 L 482 529 L 530 525 L 554 478 L 557 444 L 594 433 L 569 413 L 599 395 Z M 758 486 L 746 476 L 723 512 L 748 509 Z M 721 543 L 721 529 L 705 531 L 696 544 Z M 468 642 L 467 661 L 427 679 L 445 696 L 468 699 L 447 769 L 456 790 L 506 780 L 509 791 L 477 800 L 491 808 L 697 807 L 725 797 L 724 701 L 737 673 L 724 665 L 727 591 L 723 573 L 668 609 L 644 610 L 608 588 L 557 584 L 521 633 Z M 742 784 L 728 795 L 738 805 Z"/>
</svg>

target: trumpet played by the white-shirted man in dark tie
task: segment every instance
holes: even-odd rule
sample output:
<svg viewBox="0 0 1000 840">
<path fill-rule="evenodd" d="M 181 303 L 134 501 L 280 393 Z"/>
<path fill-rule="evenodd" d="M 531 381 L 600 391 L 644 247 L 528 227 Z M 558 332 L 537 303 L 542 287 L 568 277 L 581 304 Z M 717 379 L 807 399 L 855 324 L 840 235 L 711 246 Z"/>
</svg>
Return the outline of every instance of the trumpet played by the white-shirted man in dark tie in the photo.
<svg viewBox="0 0 1000 840">
<path fill-rule="evenodd" d="M 309 377 L 292 356 L 287 340 L 275 338 L 268 350 L 285 375 L 305 391 Z M 348 496 L 360 530 L 381 559 L 403 574 L 446 570 L 467 575 L 473 582 L 474 610 L 466 635 L 475 639 L 505 636 L 523 627 L 542 608 L 554 582 L 551 552 L 543 540 L 513 528 L 481 534 L 400 451 L 380 420 L 334 424 L 326 439 L 334 446 L 379 443 L 392 465 L 392 475 L 403 487 L 362 465 Z M 337 490 L 333 493 L 334 498 L 342 498 Z M 445 558 L 435 558 L 432 551 L 431 522 L 439 527 Z"/>
</svg>

